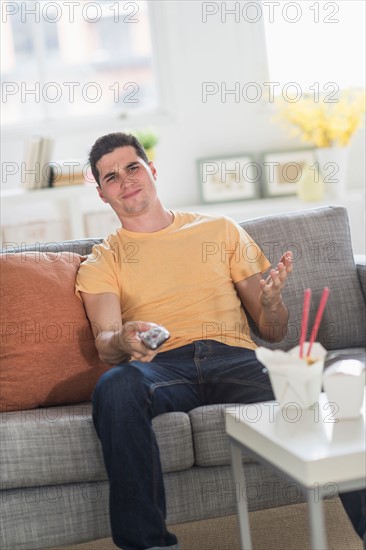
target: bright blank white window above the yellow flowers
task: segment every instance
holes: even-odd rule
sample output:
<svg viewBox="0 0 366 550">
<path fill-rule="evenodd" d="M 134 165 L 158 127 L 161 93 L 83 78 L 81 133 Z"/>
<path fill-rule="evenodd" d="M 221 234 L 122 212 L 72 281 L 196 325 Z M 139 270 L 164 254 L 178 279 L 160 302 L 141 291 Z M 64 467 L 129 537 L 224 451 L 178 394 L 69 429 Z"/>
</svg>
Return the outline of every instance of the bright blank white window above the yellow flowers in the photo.
<svg viewBox="0 0 366 550">
<path fill-rule="evenodd" d="M 275 94 L 365 86 L 365 2 L 262 2 L 262 9 L 269 79 L 281 84 Z"/>
</svg>

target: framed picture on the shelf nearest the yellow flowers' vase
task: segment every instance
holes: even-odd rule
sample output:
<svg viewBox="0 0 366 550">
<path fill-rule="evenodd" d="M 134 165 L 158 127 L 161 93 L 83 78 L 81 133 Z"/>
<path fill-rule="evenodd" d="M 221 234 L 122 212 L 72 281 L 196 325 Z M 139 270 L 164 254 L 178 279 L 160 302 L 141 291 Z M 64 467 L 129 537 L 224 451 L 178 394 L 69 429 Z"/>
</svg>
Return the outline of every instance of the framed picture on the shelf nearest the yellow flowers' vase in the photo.
<svg viewBox="0 0 366 550">
<path fill-rule="evenodd" d="M 296 195 L 302 177 L 314 180 L 314 149 L 267 151 L 262 155 L 264 196 Z"/>
</svg>

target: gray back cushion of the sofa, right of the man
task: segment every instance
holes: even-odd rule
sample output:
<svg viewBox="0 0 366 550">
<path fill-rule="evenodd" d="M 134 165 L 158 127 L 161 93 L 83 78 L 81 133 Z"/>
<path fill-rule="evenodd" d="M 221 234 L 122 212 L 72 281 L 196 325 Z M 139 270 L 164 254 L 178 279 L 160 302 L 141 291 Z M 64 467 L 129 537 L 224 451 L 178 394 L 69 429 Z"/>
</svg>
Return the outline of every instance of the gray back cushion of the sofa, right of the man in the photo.
<svg viewBox="0 0 366 550">
<path fill-rule="evenodd" d="M 309 332 L 325 286 L 330 295 L 318 332 L 328 350 L 365 346 L 365 299 L 354 262 L 345 208 L 325 207 L 248 220 L 241 224 L 276 267 L 286 250 L 294 254 L 294 269 L 283 291 L 290 313 L 282 342 L 260 345 L 289 349 L 299 343 L 305 288 L 311 288 Z M 308 334 L 309 335 L 309 334 Z"/>
</svg>

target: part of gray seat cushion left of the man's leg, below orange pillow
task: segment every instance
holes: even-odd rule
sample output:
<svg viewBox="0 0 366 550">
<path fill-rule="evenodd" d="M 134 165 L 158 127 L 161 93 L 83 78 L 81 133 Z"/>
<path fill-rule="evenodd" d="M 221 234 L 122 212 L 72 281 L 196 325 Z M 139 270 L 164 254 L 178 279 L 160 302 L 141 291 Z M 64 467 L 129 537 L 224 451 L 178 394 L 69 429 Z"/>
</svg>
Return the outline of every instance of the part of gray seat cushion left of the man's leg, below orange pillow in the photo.
<svg viewBox="0 0 366 550">
<path fill-rule="evenodd" d="M 107 479 L 90 403 L 3 413 L 0 440 L 3 489 Z"/>
</svg>

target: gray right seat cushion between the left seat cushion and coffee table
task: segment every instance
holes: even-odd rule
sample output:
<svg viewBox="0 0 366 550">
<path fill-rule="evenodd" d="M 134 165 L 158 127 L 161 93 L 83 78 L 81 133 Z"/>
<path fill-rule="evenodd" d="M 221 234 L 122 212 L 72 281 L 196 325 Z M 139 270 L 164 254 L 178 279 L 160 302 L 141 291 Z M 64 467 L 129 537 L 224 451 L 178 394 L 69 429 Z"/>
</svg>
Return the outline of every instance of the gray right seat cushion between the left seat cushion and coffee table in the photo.
<svg viewBox="0 0 366 550">
<path fill-rule="evenodd" d="M 238 404 L 207 405 L 189 412 L 197 466 L 231 464 L 229 440 L 225 431 L 225 410 L 238 410 Z M 255 404 L 253 405 L 255 407 Z M 254 462 L 243 452 L 243 462 Z"/>
</svg>

